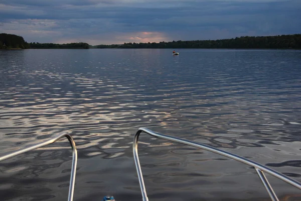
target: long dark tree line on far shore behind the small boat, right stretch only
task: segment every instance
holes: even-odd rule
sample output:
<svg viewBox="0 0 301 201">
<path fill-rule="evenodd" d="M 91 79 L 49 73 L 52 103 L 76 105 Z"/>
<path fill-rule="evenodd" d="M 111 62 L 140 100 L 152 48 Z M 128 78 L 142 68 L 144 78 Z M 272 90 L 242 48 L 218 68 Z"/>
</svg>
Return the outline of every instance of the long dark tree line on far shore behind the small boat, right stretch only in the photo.
<svg viewBox="0 0 301 201">
<path fill-rule="evenodd" d="M 96 45 L 92 48 L 230 48 L 230 49 L 301 49 L 301 34 L 278 36 L 242 36 L 221 40 L 172 41 L 160 43 L 124 43 Z"/>
</svg>

